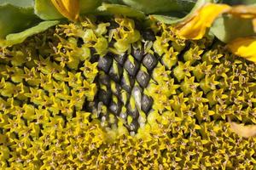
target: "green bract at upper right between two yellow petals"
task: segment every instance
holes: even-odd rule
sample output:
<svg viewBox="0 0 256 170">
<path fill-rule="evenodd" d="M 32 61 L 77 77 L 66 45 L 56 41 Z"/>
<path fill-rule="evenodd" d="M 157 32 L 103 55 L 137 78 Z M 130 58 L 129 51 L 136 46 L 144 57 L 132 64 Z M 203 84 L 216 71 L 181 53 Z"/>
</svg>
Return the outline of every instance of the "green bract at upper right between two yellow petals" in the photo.
<svg viewBox="0 0 256 170">
<path fill-rule="evenodd" d="M 214 21 L 210 29 L 222 42 L 230 42 L 237 37 L 255 36 L 251 19 L 242 19 L 224 14 Z"/>
</svg>

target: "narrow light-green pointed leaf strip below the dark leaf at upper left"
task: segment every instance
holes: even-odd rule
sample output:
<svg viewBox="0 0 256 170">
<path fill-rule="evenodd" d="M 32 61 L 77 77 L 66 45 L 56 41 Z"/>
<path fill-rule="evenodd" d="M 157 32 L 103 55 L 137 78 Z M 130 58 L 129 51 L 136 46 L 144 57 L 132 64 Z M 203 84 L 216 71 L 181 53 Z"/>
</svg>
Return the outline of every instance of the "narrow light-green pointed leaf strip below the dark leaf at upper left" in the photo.
<svg viewBox="0 0 256 170">
<path fill-rule="evenodd" d="M 40 22 L 37 26 L 33 26 L 25 31 L 21 31 L 19 33 L 9 34 L 6 37 L 4 46 L 12 46 L 14 44 L 24 42 L 27 37 L 30 37 L 34 34 L 38 34 L 39 32 L 47 30 L 51 26 L 55 26 L 59 23 L 58 20 L 49 20 Z"/>
</svg>

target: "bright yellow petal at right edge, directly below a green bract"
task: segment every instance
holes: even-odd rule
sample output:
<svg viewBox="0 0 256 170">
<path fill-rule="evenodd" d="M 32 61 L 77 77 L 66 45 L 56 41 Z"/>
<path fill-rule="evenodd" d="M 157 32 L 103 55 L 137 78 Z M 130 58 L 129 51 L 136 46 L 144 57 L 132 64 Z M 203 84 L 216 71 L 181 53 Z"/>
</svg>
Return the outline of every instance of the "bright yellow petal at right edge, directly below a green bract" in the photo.
<svg viewBox="0 0 256 170">
<path fill-rule="evenodd" d="M 256 37 L 239 37 L 227 45 L 233 54 L 256 63 Z"/>
</svg>

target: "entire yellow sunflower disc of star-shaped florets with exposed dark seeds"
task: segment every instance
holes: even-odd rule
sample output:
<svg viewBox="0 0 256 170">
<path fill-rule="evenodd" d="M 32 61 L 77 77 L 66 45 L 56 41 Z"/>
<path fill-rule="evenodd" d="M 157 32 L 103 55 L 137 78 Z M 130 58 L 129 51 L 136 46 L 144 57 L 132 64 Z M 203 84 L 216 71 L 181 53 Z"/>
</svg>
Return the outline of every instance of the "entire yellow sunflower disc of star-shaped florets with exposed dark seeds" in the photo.
<svg viewBox="0 0 256 170">
<path fill-rule="evenodd" d="M 253 169 L 256 65 L 172 26 L 85 18 L 0 54 L 3 169 Z"/>
</svg>

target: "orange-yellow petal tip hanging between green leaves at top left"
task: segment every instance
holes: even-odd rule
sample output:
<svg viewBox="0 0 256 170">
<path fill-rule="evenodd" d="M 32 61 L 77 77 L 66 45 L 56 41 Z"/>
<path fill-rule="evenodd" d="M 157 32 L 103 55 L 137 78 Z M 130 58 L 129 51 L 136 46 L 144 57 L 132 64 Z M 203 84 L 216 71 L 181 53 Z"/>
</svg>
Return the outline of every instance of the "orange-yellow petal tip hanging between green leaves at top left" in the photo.
<svg viewBox="0 0 256 170">
<path fill-rule="evenodd" d="M 79 0 L 51 0 L 51 3 L 68 20 L 79 19 Z"/>
</svg>

